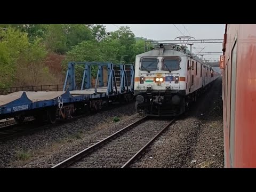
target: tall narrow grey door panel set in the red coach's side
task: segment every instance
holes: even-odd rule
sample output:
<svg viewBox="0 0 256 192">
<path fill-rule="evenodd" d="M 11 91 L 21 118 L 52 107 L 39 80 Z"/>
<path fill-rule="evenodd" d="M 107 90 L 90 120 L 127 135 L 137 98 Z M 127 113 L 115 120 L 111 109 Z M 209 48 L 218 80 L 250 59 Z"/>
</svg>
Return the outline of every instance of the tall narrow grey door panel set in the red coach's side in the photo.
<svg viewBox="0 0 256 192">
<path fill-rule="evenodd" d="M 231 99 L 230 99 L 230 157 L 231 166 L 234 167 L 235 153 L 235 115 L 236 115 L 236 58 L 237 58 L 237 43 L 232 50 L 231 57 Z"/>
</svg>

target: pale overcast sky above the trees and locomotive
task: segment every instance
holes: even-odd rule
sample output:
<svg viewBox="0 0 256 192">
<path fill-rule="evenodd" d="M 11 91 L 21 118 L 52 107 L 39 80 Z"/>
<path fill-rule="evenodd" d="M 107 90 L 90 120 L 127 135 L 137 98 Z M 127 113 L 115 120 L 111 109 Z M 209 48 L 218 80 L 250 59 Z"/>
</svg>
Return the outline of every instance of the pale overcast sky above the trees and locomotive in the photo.
<svg viewBox="0 0 256 192">
<path fill-rule="evenodd" d="M 178 36 L 192 36 L 195 39 L 223 39 L 225 24 L 102 24 L 108 31 L 121 26 L 129 26 L 135 36 L 154 40 L 174 40 Z M 179 31 L 180 30 L 180 31 Z M 190 46 L 189 46 L 190 47 Z M 221 43 L 194 44 L 192 52 L 222 52 Z M 219 55 L 205 55 L 205 58 L 219 59 Z"/>
</svg>

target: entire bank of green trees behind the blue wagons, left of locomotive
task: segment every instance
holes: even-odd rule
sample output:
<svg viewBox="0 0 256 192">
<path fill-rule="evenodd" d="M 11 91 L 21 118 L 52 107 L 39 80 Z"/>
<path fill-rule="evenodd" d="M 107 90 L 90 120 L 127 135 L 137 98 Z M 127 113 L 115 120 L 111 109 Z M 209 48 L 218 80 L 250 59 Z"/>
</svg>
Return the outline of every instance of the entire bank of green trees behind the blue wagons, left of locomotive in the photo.
<svg viewBox="0 0 256 192">
<path fill-rule="evenodd" d="M 66 55 L 68 61 L 134 63 L 135 55 L 145 51 L 145 38 L 135 37 L 122 26 L 107 35 L 106 27 L 95 24 L 0 24 L 0 87 L 37 85 L 56 81 L 45 65 L 47 53 Z M 76 79 L 82 78 L 83 66 Z M 92 68 L 96 77 L 97 67 Z M 26 74 L 25 76 L 22 74 Z"/>
</svg>

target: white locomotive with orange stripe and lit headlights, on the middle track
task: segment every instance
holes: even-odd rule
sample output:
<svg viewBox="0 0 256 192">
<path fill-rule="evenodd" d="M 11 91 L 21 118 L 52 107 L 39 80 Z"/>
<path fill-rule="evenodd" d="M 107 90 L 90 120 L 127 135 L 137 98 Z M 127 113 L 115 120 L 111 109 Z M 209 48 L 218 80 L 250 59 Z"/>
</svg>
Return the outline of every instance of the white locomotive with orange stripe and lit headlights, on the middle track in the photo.
<svg viewBox="0 0 256 192">
<path fill-rule="evenodd" d="M 218 76 L 186 46 L 156 45 L 136 56 L 135 108 L 149 116 L 178 116 Z"/>
</svg>

